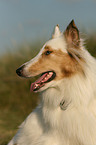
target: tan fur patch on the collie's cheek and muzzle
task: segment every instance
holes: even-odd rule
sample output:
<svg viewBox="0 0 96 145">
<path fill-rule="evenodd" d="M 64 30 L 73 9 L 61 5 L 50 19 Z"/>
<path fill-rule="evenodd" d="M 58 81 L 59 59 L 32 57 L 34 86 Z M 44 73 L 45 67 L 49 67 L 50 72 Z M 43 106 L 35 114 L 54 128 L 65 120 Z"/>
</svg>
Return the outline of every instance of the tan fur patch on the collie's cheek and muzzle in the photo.
<svg viewBox="0 0 96 145">
<path fill-rule="evenodd" d="M 52 51 L 52 54 L 45 55 L 46 51 Z M 35 75 L 39 75 L 45 71 L 55 71 L 55 80 L 59 80 L 82 72 L 82 68 L 69 54 L 62 52 L 60 49 L 53 50 L 50 46 L 46 46 L 42 52 L 42 56 L 28 68 L 28 71 L 32 74 L 35 73 Z"/>
</svg>

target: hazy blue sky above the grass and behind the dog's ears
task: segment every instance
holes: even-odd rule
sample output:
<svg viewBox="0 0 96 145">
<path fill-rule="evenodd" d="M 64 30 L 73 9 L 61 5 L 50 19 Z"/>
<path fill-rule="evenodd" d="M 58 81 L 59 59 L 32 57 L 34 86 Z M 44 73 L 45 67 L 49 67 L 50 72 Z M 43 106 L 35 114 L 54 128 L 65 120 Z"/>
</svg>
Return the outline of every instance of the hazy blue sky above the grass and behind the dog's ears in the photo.
<svg viewBox="0 0 96 145">
<path fill-rule="evenodd" d="M 0 53 L 36 38 L 50 38 L 74 19 L 79 29 L 96 31 L 96 0 L 1 0 Z"/>
</svg>

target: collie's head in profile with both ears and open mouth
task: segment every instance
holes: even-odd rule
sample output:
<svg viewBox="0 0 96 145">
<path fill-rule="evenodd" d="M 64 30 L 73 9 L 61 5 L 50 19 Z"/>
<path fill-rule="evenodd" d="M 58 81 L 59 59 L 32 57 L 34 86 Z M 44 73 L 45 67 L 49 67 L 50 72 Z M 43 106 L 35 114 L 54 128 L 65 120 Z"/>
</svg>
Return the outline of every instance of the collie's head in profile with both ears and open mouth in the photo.
<svg viewBox="0 0 96 145">
<path fill-rule="evenodd" d="M 55 86 L 56 81 L 72 77 L 82 71 L 79 31 L 72 20 L 64 33 L 55 27 L 52 39 L 45 43 L 39 54 L 16 70 L 22 77 L 41 75 L 31 84 L 32 91 L 42 91 Z"/>
</svg>

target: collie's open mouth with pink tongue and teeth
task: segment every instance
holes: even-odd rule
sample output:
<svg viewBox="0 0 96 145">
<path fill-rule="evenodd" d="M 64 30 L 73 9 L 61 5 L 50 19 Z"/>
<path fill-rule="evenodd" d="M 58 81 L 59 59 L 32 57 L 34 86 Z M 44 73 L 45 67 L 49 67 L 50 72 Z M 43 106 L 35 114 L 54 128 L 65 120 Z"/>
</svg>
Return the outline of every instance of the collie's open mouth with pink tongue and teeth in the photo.
<svg viewBox="0 0 96 145">
<path fill-rule="evenodd" d="M 31 91 L 38 91 L 41 87 L 45 86 L 46 83 L 51 82 L 56 77 L 56 73 L 53 71 L 44 72 L 40 78 L 31 84 Z"/>
</svg>

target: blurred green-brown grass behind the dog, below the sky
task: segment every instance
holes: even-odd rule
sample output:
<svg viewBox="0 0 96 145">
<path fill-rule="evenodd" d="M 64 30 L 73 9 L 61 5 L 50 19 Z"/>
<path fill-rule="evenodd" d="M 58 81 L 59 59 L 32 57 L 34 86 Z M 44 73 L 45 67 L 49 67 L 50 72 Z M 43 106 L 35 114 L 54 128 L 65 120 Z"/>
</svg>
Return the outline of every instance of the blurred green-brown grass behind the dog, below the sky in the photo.
<svg viewBox="0 0 96 145">
<path fill-rule="evenodd" d="M 22 79 L 15 71 L 34 57 L 41 46 L 40 42 L 25 48 L 21 46 L 14 53 L 6 53 L 0 58 L 0 145 L 8 143 L 38 103 L 37 94 L 30 93 L 30 84 L 34 80 Z M 96 56 L 95 36 L 86 41 L 86 47 Z"/>
</svg>

